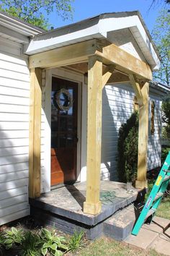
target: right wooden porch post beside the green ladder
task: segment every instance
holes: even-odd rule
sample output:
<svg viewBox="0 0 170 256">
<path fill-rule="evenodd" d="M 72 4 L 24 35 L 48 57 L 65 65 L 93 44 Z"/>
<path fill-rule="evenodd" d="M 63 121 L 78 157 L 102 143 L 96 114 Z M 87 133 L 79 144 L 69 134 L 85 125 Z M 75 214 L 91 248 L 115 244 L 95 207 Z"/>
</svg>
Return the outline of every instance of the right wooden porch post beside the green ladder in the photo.
<svg viewBox="0 0 170 256">
<path fill-rule="evenodd" d="M 143 189 L 148 187 L 147 152 L 148 152 L 148 82 L 143 85 L 143 105 L 139 105 L 139 129 L 138 129 L 138 174 L 135 187 Z"/>
</svg>

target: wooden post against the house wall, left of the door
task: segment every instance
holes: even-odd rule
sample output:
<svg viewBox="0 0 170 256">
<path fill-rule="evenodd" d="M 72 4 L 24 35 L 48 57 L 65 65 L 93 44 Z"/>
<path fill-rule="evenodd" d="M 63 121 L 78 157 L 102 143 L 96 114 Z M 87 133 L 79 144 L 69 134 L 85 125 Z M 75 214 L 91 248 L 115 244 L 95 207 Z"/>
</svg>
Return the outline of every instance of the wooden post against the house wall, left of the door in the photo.
<svg viewBox="0 0 170 256">
<path fill-rule="evenodd" d="M 40 196 L 42 69 L 30 70 L 29 196 Z"/>
</svg>

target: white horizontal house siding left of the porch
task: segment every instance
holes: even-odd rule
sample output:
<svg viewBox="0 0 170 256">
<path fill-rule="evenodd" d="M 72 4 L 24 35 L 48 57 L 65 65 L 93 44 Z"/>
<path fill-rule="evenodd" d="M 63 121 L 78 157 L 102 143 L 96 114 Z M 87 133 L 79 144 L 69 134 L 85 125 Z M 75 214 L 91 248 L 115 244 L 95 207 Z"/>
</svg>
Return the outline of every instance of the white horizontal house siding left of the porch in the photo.
<svg viewBox="0 0 170 256">
<path fill-rule="evenodd" d="M 22 46 L 0 38 L 0 225 L 28 205 L 30 74 Z"/>
</svg>

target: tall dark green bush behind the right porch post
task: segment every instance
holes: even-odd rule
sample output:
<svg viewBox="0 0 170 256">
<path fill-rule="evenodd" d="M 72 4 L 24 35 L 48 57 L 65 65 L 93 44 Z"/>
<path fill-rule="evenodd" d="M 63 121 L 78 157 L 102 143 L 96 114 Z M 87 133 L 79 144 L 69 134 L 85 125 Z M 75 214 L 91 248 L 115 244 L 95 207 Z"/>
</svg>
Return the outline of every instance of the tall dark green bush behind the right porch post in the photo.
<svg viewBox="0 0 170 256">
<path fill-rule="evenodd" d="M 138 112 L 122 124 L 117 143 L 117 174 L 119 182 L 134 182 L 138 168 Z"/>
</svg>

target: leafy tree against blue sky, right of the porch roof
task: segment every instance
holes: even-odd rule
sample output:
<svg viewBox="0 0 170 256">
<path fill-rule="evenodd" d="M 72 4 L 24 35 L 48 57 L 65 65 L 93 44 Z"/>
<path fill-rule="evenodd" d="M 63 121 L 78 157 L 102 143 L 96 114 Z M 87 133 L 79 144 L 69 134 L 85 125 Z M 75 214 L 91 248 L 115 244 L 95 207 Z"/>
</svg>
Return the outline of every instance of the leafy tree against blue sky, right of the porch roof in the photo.
<svg viewBox="0 0 170 256">
<path fill-rule="evenodd" d="M 153 41 L 161 54 L 161 68 L 153 73 L 153 78 L 165 85 L 170 85 L 170 12 L 162 9 L 152 32 Z"/>
</svg>

